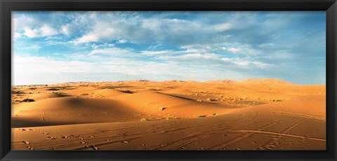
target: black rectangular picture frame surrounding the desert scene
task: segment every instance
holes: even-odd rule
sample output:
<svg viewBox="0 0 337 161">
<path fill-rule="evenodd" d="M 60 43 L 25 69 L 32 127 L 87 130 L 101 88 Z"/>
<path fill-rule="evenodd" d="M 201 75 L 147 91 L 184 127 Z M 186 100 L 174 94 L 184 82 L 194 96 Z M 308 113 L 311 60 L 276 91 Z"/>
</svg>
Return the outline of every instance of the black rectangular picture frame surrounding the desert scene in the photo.
<svg viewBox="0 0 337 161">
<path fill-rule="evenodd" d="M 11 151 L 13 10 L 326 10 L 326 151 Z M 336 0 L 0 0 L 0 160 L 336 160 Z"/>
</svg>

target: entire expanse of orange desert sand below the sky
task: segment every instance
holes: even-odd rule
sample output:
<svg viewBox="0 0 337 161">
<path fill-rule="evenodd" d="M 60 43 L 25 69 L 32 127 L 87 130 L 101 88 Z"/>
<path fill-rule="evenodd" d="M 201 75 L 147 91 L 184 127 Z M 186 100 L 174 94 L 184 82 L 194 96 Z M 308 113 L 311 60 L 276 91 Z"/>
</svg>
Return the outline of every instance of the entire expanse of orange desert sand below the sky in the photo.
<svg viewBox="0 0 337 161">
<path fill-rule="evenodd" d="M 326 150 L 326 85 L 82 81 L 11 94 L 15 150 Z"/>
</svg>

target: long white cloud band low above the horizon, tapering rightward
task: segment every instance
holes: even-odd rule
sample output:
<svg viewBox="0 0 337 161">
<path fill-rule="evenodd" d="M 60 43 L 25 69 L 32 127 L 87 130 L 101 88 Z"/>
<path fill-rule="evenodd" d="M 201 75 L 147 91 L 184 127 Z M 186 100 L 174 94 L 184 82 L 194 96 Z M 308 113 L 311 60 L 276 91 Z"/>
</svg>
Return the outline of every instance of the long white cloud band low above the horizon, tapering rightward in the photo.
<svg viewBox="0 0 337 161">
<path fill-rule="evenodd" d="M 114 57 L 101 62 L 68 62 L 48 57 L 15 55 L 13 59 L 13 84 L 49 84 L 80 80 L 100 82 L 133 79 L 197 79 L 210 75 L 202 74 L 201 77 L 200 73 L 189 72 L 190 70 L 190 68 L 176 63 L 143 62 Z M 39 73 L 39 77 L 37 77 L 37 73 Z M 80 77 L 77 78 L 78 76 Z"/>
</svg>

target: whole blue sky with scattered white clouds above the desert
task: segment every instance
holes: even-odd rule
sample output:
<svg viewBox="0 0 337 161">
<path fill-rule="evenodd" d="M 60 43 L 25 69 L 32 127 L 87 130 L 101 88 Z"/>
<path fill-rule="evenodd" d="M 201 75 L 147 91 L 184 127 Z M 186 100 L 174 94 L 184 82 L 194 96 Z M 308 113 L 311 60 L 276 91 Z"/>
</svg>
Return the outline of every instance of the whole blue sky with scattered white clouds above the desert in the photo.
<svg viewBox="0 0 337 161">
<path fill-rule="evenodd" d="M 13 85 L 246 78 L 325 84 L 325 16 L 15 11 Z"/>
</svg>

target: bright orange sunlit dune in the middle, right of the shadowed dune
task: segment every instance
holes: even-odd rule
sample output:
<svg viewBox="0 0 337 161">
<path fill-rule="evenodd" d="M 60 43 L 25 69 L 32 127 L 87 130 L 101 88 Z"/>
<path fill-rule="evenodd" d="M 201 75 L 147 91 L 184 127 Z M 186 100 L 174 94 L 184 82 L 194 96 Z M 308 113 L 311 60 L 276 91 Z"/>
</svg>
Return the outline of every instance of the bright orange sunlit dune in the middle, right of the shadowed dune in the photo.
<svg viewBox="0 0 337 161">
<path fill-rule="evenodd" d="M 164 118 L 195 118 L 199 115 L 211 116 L 213 113 L 225 113 L 227 106 L 198 102 L 183 96 L 164 94 L 160 92 L 138 92 L 126 94 L 118 99 L 128 106 L 135 106 L 147 115 L 157 115 Z M 163 108 L 164 109 L 161 109 Z M 189 111 L 188 113 L 186 111 Z"/>
</svg>

